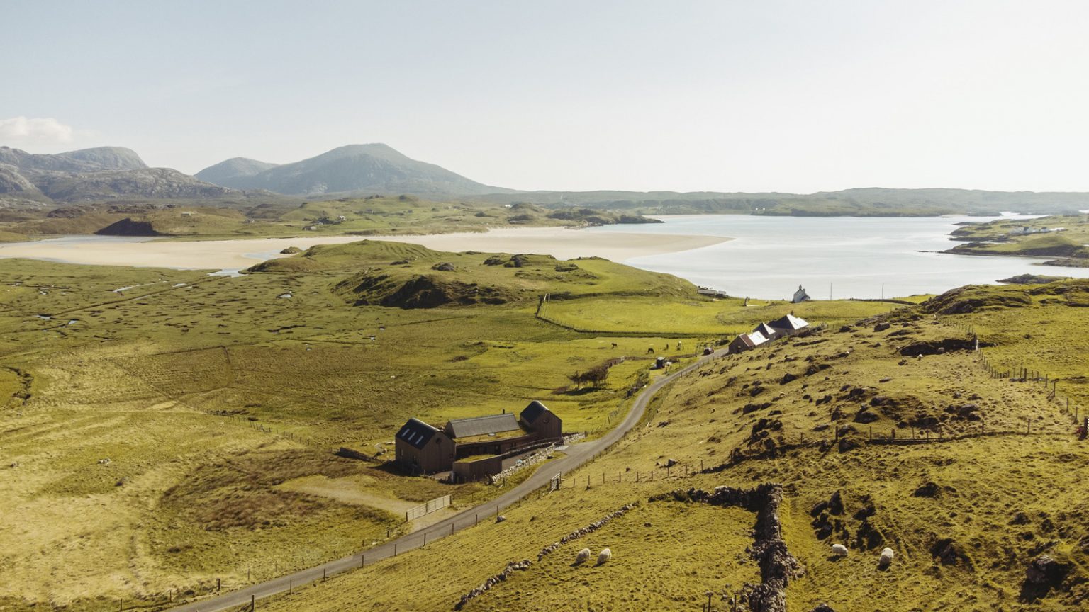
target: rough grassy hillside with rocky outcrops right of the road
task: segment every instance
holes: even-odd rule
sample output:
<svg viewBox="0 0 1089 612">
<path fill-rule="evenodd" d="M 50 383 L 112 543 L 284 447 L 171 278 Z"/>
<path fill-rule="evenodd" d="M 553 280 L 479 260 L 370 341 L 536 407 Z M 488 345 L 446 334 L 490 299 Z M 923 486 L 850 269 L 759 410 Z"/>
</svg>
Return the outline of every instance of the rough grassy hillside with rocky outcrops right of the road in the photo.
<svg viewBox="0 0 1089 612">
<path fill-rule="evenodd" d="M 1080 519 L 1089 502 L 1074 466 L 1089 461 L 1089 445 L 1076 440 L 1072 419 L 1042 384 L 991 378 L 963 329 L 974 326 L 981 340 L 996 343 L 986 348 L 993 358 L 1008 352 L 1050 359 L 1047 339 L 1035 335 L 1042 327 L 1066 330 L 1066 350 L 1084 355 L 1089 336 L 1077 330 L 1089 329 L 1089 309 L 1074 305 L 1089 283 L 1067 286 L 1057 296 L 1051 290 L 1031 295 L 1039 289 L 1031 285 L 974 289 L 977 304 L 940 320 L 934 311 L 956 296 L 898 311 L 881 331 L 870 325 L 829 330 L 710 363 L 671 385 L 653 417 L 611 452 L 565 475 L 560 492 L 530 498 L 507 512 L 507 522 L 468 529 L 268 608 L 452 607 L 507 561 L 536 560 L 536 551 L 559 535 L 639 500 L 640 512 L 665 514 L 645 519 L 632 513 L 615 530 L 610 524 L 561 547 L 554 559 L 515 573 L 465 610 L 695 609 L 706 591 L 718 601 L 752 579 L 744 578 L 751 570 L 745 544 L 727 526 L 750 524 L 736 516 L 719 527 L 717 509 L 653 506 L 647 498 L 689 486 L 779 481 L 787 492 L 785 538 L 805 567 L 787 589 L 791 610 L 821 602 L 837 610 L 1079 609 L 1089 601 L 1089 528 Z M 1016 293 L 1031 296 L 1012 308 Z M 1006 315 L 1018 321 L 1008 333 L 981 329 Z M 897 438 L 929 433 L 943 441 L 870 443 L 870 427 L 876 437 L 895 431 Z M 984 428 L 988 436 L 974 436 Z M 658 465 L 670 458 L 680 463 L 666 476 Z M 690 475 L 700 465 L 720 470 Z M 843 507 L 820 510 L 836 491 Z M 695 533 L 678 534 L 671 521 Z M 639 533 L 646 524 L 651 528 Z M 675 537 L 648 541 L 657 534 Z M 705 534 L 709 539 L 700 539 Z M 570 566 L 591 540 L 595 553 L 609 547 L 613 559 L 600 568 Z M 832 558 L 832 542 L 847 544 L 851 553 Z M 878 553 L 886 546 L 896 558 L 880 571 Z M 707 550 L 713 561 L 700 556 Z M 1051 590 L 1023 590 L 1028 563 L 1043 552 L 1065 564 L 1066 576 Z M 705 573 L 712 562 L 714 571 Z M 674 568 L 668 584 L 647 578 L 663 566 Z M 608 579 L 599 580 L 605 572 Z"/>
</svg>

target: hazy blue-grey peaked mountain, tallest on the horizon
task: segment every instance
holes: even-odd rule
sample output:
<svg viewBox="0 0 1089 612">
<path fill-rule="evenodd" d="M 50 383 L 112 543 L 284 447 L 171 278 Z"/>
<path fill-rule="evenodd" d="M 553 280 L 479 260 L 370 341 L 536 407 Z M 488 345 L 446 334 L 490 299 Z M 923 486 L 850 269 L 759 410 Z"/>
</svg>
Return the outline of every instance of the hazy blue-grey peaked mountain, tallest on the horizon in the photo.
<svg viewBox="0 0 1089 612">
<path fill-rule="evenodd" d="M 378 143 L 338 147 L 317 157 L 253 174 L 227 175 L 238 170 L 246 172 L 254 163 L 255 160 L 235 158 L 206 168 L 197 176 L 235 189 L 268 189 L 290 195 L 351 192 L 418 195 L 513 193 L 470 181 L 433 163 L 417 161 Z M 213 181 L 217 178 L 219 180 Z"/>
</svg>

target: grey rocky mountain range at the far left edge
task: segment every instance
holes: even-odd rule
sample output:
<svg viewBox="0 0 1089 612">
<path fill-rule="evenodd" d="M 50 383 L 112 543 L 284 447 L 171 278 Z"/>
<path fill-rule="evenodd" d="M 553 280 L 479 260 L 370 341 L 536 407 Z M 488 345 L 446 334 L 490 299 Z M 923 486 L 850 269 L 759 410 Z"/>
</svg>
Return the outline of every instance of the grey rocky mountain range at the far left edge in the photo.
<svg viewBox="0 0 1089 612">
<path fill-rule="evenodd" d="M 0 147 L 0 204 L 36 205 L 133 198 L 211 198 L 233 189 L 169 168 L 148 168 L 132 149 L 96 147 L 28 154 Z"/>
</svg>

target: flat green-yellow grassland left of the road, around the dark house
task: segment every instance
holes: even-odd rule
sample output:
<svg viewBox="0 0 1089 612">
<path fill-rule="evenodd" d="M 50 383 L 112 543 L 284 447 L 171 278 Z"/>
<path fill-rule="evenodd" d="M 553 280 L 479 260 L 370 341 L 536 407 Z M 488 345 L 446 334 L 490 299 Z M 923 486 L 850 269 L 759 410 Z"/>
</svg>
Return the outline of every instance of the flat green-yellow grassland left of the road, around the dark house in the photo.
<svg viewBox="0 0 1089 612">
<path fill-rule="evenodd" d="M 494 490 L 332 450 L 388 456 L 409 416 L 441 425 L 534 399 L 596 434 L 646 379 L 648 346 L 676 358 L 723 338 L 535 318 L 544 293 L 700 299 L 602 259 L 360 242 L 257 270 L 0 261 L 5 607 L 150 604 L 384 540 L 413 528 L 397 518 L 406 504 L 452 493 L 464 507 Z M 602 385 L 568 379 L 617 357 Z"/>
</svg>

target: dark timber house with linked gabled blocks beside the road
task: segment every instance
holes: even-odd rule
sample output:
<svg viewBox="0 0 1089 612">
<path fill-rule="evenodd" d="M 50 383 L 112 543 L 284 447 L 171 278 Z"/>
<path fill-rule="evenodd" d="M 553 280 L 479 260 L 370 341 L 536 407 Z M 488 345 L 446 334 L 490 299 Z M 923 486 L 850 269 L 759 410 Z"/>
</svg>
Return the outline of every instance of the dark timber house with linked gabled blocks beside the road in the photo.
<svg viewBox="0 0 1089 612">
<path fill-rule="evenodd" d="M 412 474 L 453 472 L 469 480 L 498 474 L 509 456 L 562 440 L 563 421 L 535 400 L 517 416 L 458 418 L 442 429 L 409 418 L 395 437 L 395 462 Z"/>
</svg>

